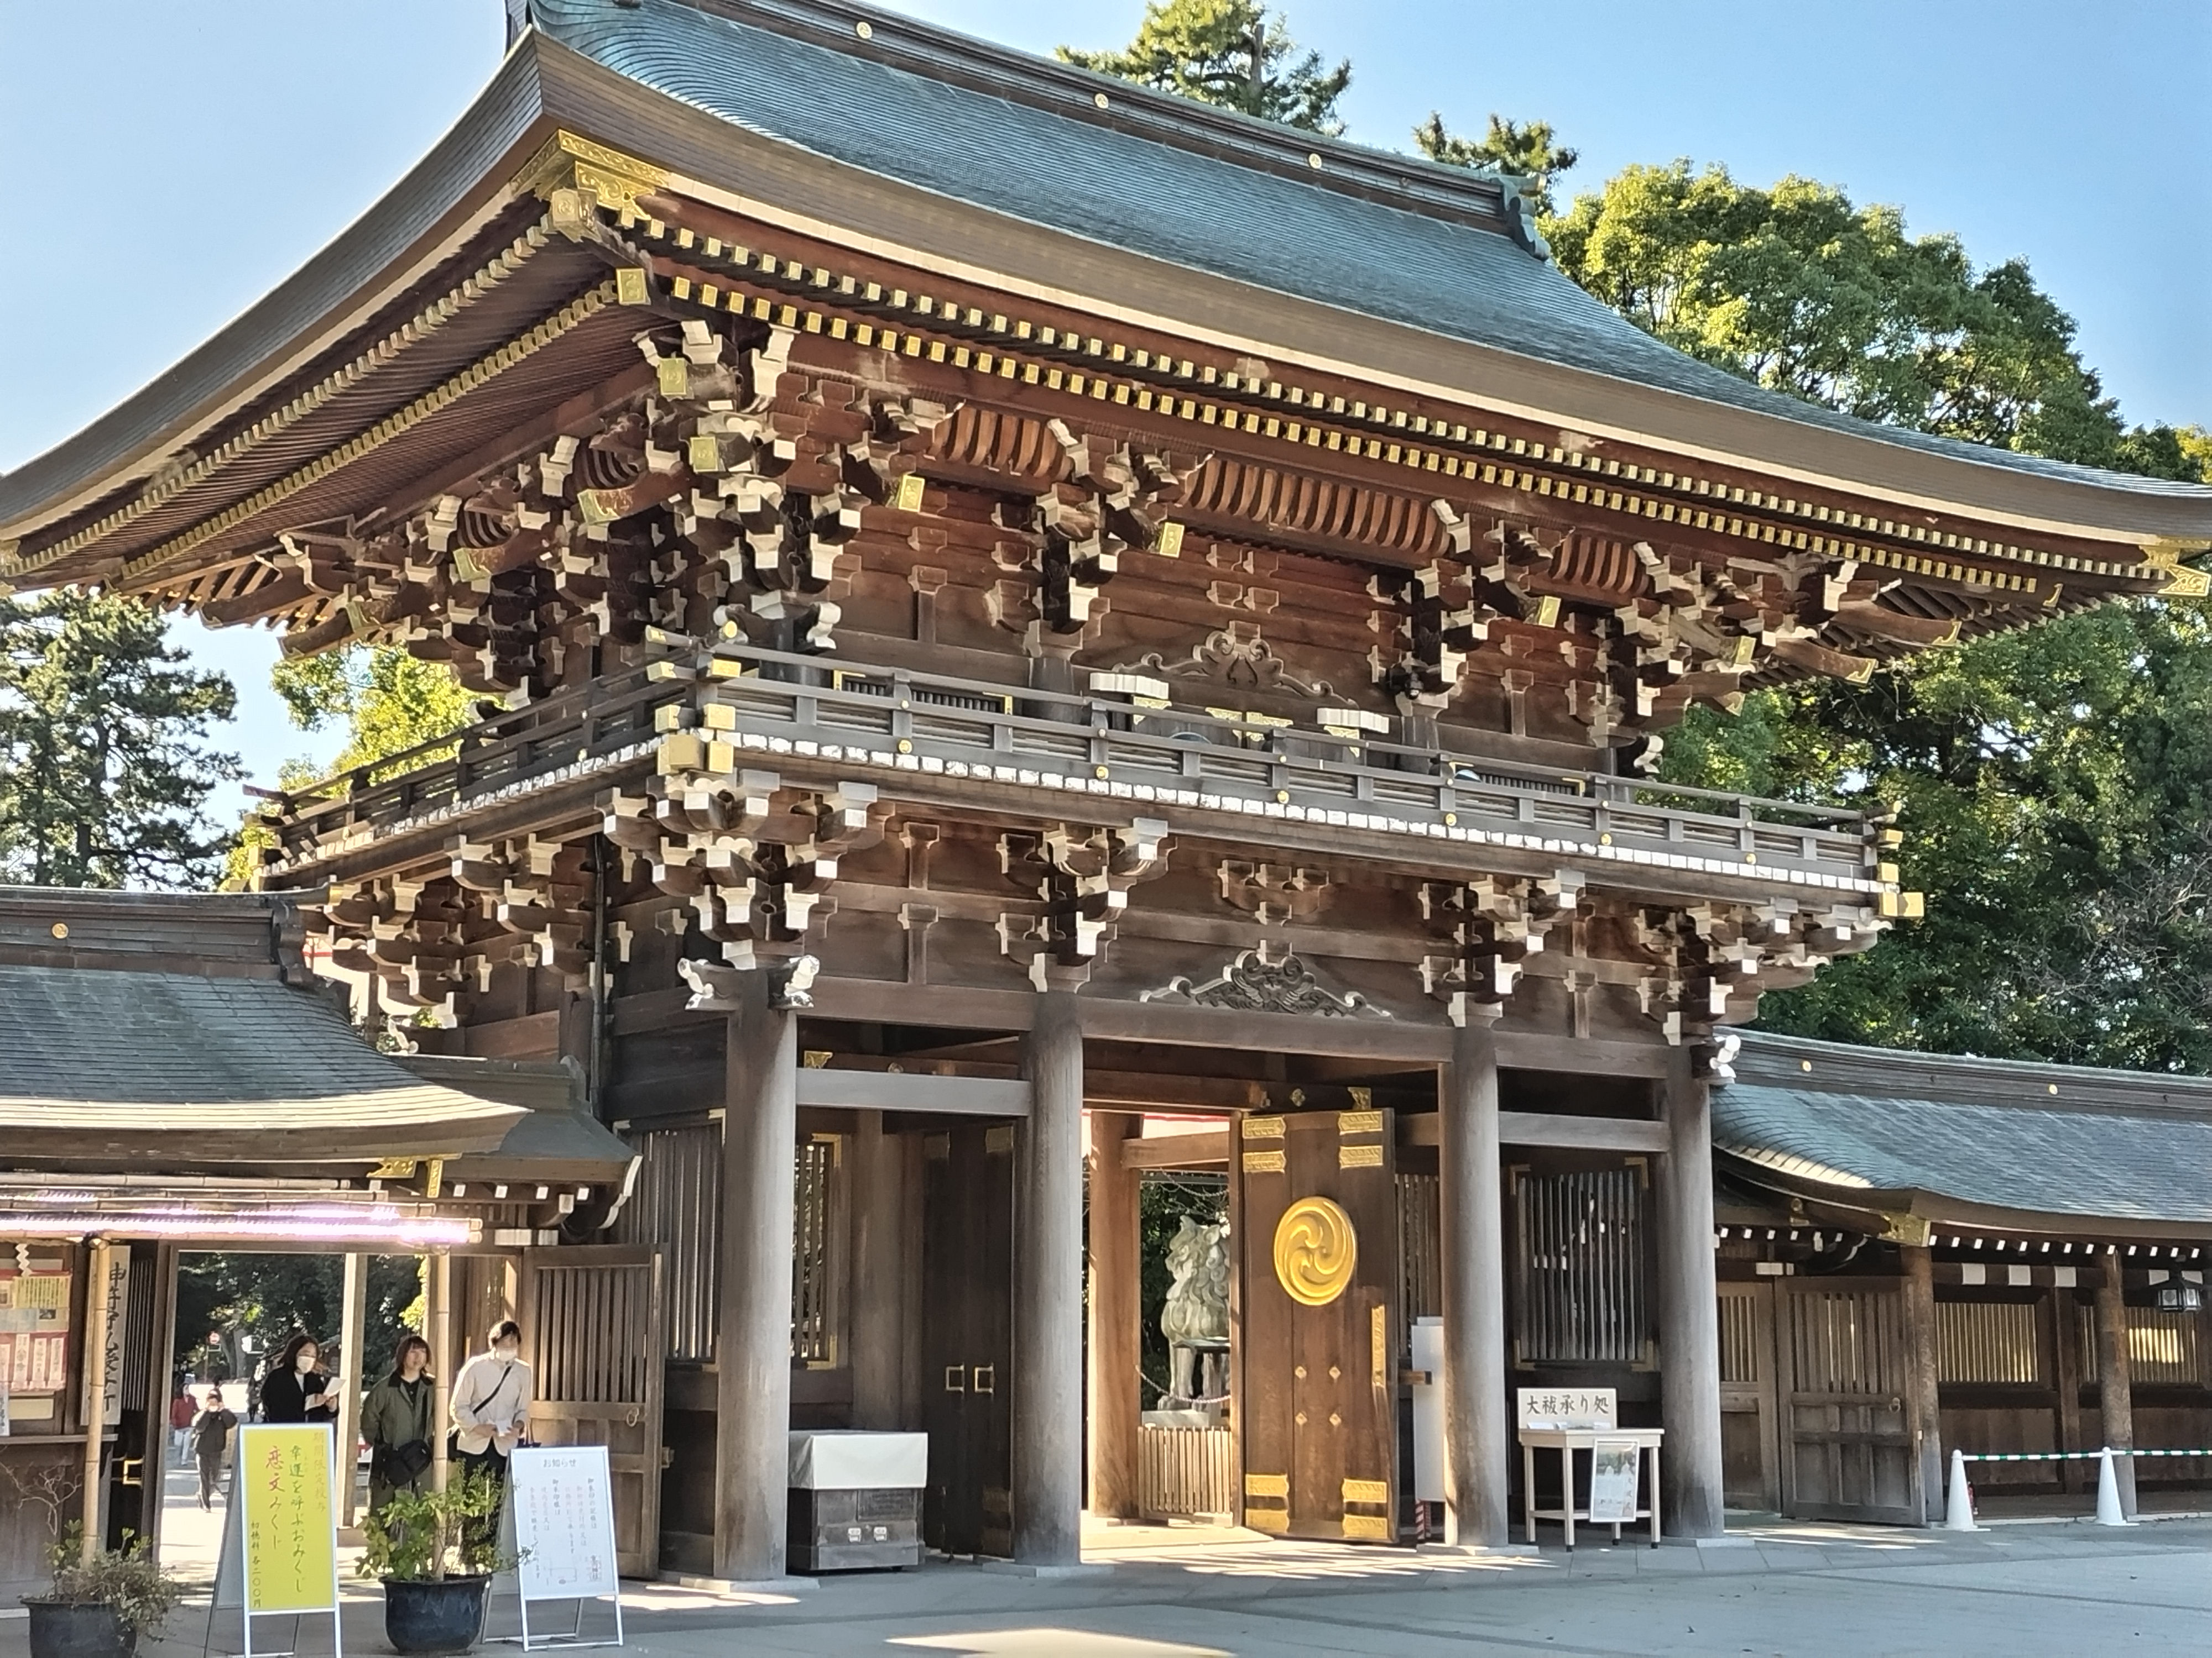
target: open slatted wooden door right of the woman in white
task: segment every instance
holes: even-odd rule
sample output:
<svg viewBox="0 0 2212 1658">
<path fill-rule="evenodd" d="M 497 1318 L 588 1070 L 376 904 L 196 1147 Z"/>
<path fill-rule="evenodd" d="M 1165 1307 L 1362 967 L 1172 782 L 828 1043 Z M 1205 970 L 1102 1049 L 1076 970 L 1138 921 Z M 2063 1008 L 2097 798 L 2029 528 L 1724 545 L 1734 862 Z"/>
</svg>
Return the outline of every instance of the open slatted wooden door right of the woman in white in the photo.
<svg viewBox="0 0 2212 1658">
<path fill-rule="evenodd" d="M 659 1574 L 661 1251 L 653 1245 L 524 1249 L 522 1342 L 542 1446 L 606 1446 L 615 1481 L 615 1563 Z"/>
</svg>

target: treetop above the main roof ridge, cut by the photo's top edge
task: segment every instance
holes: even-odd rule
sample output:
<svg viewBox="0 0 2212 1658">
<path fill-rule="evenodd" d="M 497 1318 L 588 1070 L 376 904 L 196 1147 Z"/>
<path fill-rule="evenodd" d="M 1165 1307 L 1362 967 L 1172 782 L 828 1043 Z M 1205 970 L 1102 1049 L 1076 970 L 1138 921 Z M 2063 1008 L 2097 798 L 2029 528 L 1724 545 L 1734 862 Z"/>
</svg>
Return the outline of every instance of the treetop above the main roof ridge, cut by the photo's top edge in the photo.
<svg viewBox="0 0 2212 1658">
<path fill-rule="evenodd" d="M 1352 84 L 1352 60 L 1329 69 L 1318 51 L 1290 38 L 1283 13 L 1270 13 L 1259 0 L 1148 0 L 1137 38 L 1121 51 L 1060 46 L 1057 55 L 1079 69 L 1323 137 L 1345 130 L 1336 99 Z"/>
</svg>

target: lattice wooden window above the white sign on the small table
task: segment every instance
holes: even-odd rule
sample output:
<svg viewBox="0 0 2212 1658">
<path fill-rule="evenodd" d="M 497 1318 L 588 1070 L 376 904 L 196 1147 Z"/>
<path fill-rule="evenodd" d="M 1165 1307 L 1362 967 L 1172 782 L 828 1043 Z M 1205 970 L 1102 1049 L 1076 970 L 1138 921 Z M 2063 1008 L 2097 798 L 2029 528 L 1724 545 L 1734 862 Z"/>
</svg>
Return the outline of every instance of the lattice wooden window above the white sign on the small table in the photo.
<svg viewBox="0 0 2212 1658">
<path fill-rule="evenodd" d="M 1644 1169 L 1522 1174 L 1520 1364 L 1641 1364 L 1650 1322 Z"/>
</svg>

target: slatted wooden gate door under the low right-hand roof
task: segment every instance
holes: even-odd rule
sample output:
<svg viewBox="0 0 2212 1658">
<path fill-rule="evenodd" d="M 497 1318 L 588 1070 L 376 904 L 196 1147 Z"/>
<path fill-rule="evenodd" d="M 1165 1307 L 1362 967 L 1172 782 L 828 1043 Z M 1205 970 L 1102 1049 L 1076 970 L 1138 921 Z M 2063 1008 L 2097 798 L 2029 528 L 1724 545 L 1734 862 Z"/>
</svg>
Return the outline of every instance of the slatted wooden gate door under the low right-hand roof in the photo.
<svg viewBox="0 0 2212 1658">
<path fill-rule="evenodd" d="M 1785 1278 L 1783 1501 L 1801 1519 L 1920 1525 L 1905 1295 L 1882 1278 Z"/>
</svg>

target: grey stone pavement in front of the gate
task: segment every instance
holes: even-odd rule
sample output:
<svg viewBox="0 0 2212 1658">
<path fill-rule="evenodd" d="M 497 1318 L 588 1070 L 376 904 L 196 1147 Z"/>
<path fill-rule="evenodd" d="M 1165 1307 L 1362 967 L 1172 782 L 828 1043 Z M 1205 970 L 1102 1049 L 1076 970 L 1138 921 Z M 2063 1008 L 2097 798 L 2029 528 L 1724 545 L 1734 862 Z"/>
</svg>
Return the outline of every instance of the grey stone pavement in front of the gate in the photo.
<svg viewBox="0 0 2212 1658">
<path fill-rule="evenodd" d="M 790 1594 L 637 1585 L 626 1594 L 628 1645 L 653 1658 L 2212 1649 L 2208 1521 L 2128 1532 L 2004 1525 L 1975 1536 L 1765 1523 L 1741 1536 L 1730 1547 L 1624 1543 L 1478 1559 L 1276 1543 L 1234 1530 L 1099 1528 L 1086 1534 L 1086 1556 L 1113 1570 L 1073 1581 L 931 1563 Z M 204 1603 L 190 1605 L 142 1654 L 197 1654 L 204 1627 Z M 0 1623 L 0 1658 L 22 1658 L 22 1629 Z M 345 1636 L 352 1654 L 387 1651 L 374 1587 L 349 1587 Z M 237 1651 L 234 1636 L 219 1631 L 215 1651 Z M 307 1629 L 301 1651 L 325 1654 L 327 1638 Z"/>
</svg>

